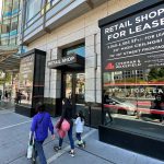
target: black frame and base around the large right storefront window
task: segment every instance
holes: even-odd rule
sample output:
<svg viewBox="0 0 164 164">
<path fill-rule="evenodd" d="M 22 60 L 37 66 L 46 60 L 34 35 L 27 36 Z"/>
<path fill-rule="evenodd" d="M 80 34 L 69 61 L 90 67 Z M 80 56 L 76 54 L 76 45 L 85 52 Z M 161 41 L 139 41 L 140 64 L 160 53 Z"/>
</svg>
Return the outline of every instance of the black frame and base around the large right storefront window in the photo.
<svg viewBox="0 0 164 164">
<path fill-rule="evenodd" d="M 164 3 L 163 0 L 145 0 L 113 15 L 98 21 L 98 26 L 102 28 L 107 24 L 115 23 L 128 16 L 140 13 L 144 10 L 157 7 Z M 103 43 L 103 32 L 101 31 L 101 43 Z M 101 51 L 103 52 L 103 45 L 101 44 Z M 110 143 L 124 149 L 128 149 L 138 153 L 142 153 L 155 159 L 164 160 L 164 141 L 155 138 L 145 137 L 142 133 L 134 133 L 119 129 L 118 127 L 104 126 L 104 70 L 103 70 L 103 55 L 101 56 L 101 71 L 102 71 L 102 125 L 98 127 L 99 140 Z M 128 141 L 127 141 L 128 140 Z"/>
</svg>

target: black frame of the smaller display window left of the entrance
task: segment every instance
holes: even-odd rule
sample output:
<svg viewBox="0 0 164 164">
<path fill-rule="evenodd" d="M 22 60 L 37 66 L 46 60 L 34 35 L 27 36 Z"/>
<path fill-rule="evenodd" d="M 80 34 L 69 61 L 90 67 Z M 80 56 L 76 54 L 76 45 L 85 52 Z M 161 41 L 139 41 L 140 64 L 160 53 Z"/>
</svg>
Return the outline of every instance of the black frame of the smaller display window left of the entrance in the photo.
<svg viewBox="0 0 164 164">
<path fill-rule="evenodd" d="M 36 104 L 44 102 L 46 51 L 32 49 L 23 54 L 21 58 L 23 59 L 28 56 L 34 57 L 32 103 L 30 105 L 15 104 L 15 113 L 33 117 L 36 114 Z"/>
</svg>

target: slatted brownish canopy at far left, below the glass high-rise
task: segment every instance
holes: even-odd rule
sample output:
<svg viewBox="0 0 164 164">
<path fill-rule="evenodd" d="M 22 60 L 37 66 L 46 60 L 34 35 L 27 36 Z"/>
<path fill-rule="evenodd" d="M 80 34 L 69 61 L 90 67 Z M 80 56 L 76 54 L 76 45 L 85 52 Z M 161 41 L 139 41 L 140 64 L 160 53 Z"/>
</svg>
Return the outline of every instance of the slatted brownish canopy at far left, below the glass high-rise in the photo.
<svg viewBox="0 0 164 164">
<path fill-rule="evenodd" d="M 20 56 L 16 55 L 19 47 L 16 46 L 0 46 L 0 70 L 19 71 Z"/>
</svg>

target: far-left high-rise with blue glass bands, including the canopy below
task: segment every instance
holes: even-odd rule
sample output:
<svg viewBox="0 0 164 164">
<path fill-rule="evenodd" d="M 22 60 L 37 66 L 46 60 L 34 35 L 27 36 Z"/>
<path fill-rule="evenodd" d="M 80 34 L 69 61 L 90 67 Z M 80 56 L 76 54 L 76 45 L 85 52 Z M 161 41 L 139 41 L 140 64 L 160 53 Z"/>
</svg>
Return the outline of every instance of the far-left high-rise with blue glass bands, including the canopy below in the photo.
<svg viewBox="0 0 164 164">
<path fill-rule="evenodd" d="M 20 0 L 0 1 L 0 70 L 17 71 L 20 66 L 19 19 Z"/>
</svg>

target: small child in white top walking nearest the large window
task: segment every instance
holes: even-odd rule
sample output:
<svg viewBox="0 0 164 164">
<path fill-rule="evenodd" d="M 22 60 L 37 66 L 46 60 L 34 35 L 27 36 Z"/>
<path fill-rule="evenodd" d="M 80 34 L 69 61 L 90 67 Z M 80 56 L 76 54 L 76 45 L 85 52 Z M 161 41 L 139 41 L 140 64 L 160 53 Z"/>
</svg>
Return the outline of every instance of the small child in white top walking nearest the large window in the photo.
<svg viewBox="0 0 164 164">
<path fill-rule="evenodd" d="M 84 127 L 84 116 L 83 113 L 80 110 L 78 113 L 78 117 L 75 119 L 75 133 L 77 133 L 77 139 L 78 139 L 78 145 L 79 147 L 85 147 L 85 142 L 81 139 L 81 134 L 83 132 L 83 127 Z"/>
</svg>

